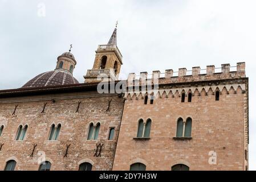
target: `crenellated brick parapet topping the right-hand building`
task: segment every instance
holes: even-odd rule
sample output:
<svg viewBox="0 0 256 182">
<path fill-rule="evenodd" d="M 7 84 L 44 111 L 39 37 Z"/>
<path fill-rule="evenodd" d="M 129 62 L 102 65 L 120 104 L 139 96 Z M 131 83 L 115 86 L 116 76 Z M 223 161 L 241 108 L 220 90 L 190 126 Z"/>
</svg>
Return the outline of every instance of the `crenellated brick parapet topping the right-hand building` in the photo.
<svg viewBox="0 0 256 182">
<path fill-rule="evenodd" d="M 235 71 L 231 71 L 230 69 Z M 179 68 L 178 72 L 173 72 L 173 69 L 166 69 L 165 73 L 160 71 L 153 71 L 151 75 L 147 72 L 140 72 L 140 75 L 129 73 L 128 86 L 132 86 L 135 80 L 139 80 L 140 84 L 144 81 L 158 80 L 159 84 L 168 84 L 174 82 L 193 82 L 206 80 L 225 80 L 231 78 L 243 78 L 245 75 L 245 62 L 237 63 L 236 66 L 230 67 L 230 64 L 222 64 L 220 68 L 214 65 L 206 66 L 206 69 L 200 67 L 193 67 L 188 71 L 186 68 Z"/>
</svg>

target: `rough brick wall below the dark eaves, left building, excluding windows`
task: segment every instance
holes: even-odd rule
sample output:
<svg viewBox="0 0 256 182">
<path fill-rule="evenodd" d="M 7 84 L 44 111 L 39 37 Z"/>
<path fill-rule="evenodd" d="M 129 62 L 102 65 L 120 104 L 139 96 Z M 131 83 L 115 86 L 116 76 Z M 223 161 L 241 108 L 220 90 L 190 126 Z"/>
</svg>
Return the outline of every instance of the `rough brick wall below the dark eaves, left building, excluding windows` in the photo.
<svg viewBox="0 0 256 182">
<path fill-rule="evenodd" d="M 51 100 L 55 99 L 55 102 Z M 111 100 L 109 111 L 108 101 Z M 34 100 L 34 101 L 32 101 Z M 78 102 L 82 101 L 79 113 L 75 113 Z M 47 102 L 44 113 L 41 113 Z M 12 115 L 18 105 L 15 115 Z M 28 96 L 0 99 L 0 125 L 4 125 L 0 143 L 0 169 L 5 168 L 6 160 L 17 160 L 15 170 L 38 170 L 38 155 L 45 152 L 46 160 L 52 163 L 51 170 L 78 170 L 79 163 L 90 162 L 92 170 L 111 170 L 119 133 L 123 100 L 116 94 L 66 93 L 55 95 Z M 87 140 L 89 123 L 101 123 L 97 140 Z M 61 123 L 58 140 L 49 141 L 52 123 Z M 27 124 L 25 140 L 16 141 L 19 125 Z M 109 127 L 115 127 L 115 137 L 108 140 Z M 94 156 L 96 144 L 104 143 L 101 156 Z M 31 157 L 33 144 L 37 144 L 34 157 Z M 67 158 L 66 145 L 71 144 Z"/>
</svg>

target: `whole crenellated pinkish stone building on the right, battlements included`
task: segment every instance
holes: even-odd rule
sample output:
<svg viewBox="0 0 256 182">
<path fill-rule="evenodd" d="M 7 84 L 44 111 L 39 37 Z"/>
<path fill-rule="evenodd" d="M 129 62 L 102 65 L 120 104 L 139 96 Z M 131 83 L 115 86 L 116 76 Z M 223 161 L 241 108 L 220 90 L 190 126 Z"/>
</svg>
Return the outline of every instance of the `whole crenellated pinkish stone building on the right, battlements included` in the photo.
<svg viewBox="0 0 256 182">
<path fill-rule="evenodd" d="M 141 87 L 136 90 L 135 83 L 143 85 L 147 73 L 142 72 L 137 80 L 131 73 L 113 170 L 129 170 L 136 163 L 144 164 L 147 170 L 171 170 L 177 164 L 190 170 L 246 170 L 245 63 L 237 63 L 234 72 L 230 72 L 229 64 L 223 64 L 220 73 L 214 71 L 214 66 L 208 66 L 206 74 L 201 75 L 200 68 L 194 67 L 187 76 L 186 69 L 181 68 L 178 76 L 166 70 L 164 77 L 154 71 L 158 89 L 144 92 Z M 145 104 L 149 96 L 153 101 Z M 177 137 L 178 120 L 182 119 L 185 126 L 188 118 L 192 121 L 189 136 Z M 139 122 L 145 130 L 149 119 L 150 135 L 138 137 Z"/>
</svg>

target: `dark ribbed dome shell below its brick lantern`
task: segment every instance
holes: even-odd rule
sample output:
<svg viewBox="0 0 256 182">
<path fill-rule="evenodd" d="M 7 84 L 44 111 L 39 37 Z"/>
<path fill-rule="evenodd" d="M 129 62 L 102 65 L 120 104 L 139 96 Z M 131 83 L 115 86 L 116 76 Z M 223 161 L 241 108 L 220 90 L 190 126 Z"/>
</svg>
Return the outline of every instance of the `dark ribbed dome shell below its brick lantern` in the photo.
<svg viewBox="0 0 256 182">
<path fill-rule="evenodd" d="M 41 87 L 54 85 L 68 85 L 79 84 L 78 80 L 72 76 L 70 72 L 58 69 L 55 71 L 48 71 L 35 76 L 28 81 L 22 88 L 26 87 Z"/>
</svg>

